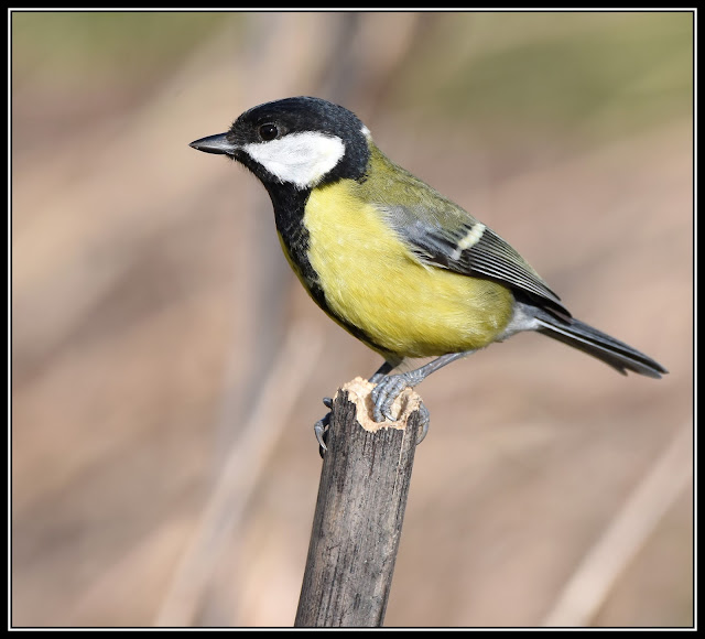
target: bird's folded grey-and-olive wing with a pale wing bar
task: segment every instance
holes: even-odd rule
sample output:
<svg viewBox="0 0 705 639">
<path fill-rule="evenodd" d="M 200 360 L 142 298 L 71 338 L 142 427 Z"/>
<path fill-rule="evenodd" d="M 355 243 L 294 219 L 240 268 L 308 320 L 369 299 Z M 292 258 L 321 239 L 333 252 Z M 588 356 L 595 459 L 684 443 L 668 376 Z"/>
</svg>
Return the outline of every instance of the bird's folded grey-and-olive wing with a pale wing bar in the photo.
<svg viewBox="0 0 705 639">
<path fill-rule="evenodd" d="M 413 207 L 378 208 L 422 263 L 501 282 L 570 316 L 560 297 L 509 243 L 436 192 Z"/>
</svg>

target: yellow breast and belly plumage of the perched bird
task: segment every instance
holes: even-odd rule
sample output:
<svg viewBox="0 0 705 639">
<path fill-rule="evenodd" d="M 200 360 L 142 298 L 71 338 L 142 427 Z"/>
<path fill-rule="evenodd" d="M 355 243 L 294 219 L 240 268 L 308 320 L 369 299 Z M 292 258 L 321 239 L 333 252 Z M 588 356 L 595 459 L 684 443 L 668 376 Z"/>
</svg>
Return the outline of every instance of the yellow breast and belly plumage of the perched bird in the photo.
<svg viewBox="0 0 705 639">
<path fill-rule="evenodd" d="M 312 192 L 308 260 L 334 315 L 388 353 L 437 356 L 481 348 L 511 316 L 509 289 L 423 264 L 375 207 L 339 181 Z"/>
</svg>

